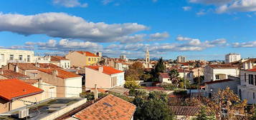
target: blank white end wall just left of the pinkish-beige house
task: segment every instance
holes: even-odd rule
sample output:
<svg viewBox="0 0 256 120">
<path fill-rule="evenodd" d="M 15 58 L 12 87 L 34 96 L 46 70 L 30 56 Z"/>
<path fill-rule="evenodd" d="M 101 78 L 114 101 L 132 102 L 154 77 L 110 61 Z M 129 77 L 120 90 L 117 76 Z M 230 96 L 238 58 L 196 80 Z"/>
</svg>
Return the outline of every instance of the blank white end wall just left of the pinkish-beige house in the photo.
<svg viewBox="0 0 256 120">
<path fill-rule="evenodd" d="M 66 97 L 79 97 L 82 93 L 82 76 L 65 79 L 65 84 L 70 86 L 65 89 Z"/>
</svg>

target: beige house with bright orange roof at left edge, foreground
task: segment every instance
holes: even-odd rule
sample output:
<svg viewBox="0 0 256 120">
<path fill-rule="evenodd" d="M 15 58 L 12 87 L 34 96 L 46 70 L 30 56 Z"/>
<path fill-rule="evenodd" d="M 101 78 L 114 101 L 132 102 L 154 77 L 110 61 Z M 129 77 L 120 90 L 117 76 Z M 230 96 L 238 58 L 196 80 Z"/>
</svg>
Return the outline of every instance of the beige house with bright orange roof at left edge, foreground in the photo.
<svg viewBox="0 0 256 120">
<path fill-rule="evenodd" d="M 19 79 L 0 79 L 0 113 L 25 106 L 24 101 L 41 101 L 42 92 Z"/>
</svg>

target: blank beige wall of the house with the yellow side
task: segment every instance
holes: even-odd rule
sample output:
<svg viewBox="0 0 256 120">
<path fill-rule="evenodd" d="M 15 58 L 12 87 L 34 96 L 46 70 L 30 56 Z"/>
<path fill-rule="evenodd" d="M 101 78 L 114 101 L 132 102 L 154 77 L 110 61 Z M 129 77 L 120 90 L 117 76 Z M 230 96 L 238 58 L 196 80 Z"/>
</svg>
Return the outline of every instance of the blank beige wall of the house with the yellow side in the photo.
<svg viewBox="0 0 256 120">
<path fill-rule="evenodd" d="M 83 54 L 73 51 L 67 54 L 65 57 L 66 59 L 70 60 L 71 66 L 86 66 L 86 57 Z"/>
</svg>

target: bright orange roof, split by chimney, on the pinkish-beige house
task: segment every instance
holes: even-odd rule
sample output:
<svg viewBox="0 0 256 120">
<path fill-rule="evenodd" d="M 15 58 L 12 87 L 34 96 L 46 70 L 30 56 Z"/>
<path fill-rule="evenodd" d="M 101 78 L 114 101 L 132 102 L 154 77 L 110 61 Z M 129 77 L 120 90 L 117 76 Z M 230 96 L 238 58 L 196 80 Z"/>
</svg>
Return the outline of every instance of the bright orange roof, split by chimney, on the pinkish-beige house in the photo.
<svg viewBox="0 0 256 120">
<path fill-rule="evenodd" d="M 86 66 L 86 67 L 89 68 L 89 69 L 94 69 L 94 70 L 98 71 L 100 66 Z M 111 66 L 103 66 L 103 73 L 104 74 L 111 75 L 111 74 L 119 74 L 119 73 L 122 73 L 122 72 L 123 71 L 120 71 L 118 69 L 114 69 Z"/>
</svg>

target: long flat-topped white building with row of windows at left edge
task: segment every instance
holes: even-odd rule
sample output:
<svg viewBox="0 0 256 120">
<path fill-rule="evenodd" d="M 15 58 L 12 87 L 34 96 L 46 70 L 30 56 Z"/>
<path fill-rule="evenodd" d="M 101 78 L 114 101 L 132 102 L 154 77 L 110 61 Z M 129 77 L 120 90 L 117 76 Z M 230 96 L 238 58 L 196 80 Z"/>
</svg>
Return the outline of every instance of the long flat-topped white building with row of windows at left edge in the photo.
<svg viewBox="0 0 256 120">
<path fill-rule="evenodd" d="M 0 68 L 11 62 L 32 63 L 34 51 L 0 49 Z"/>
</svg>

